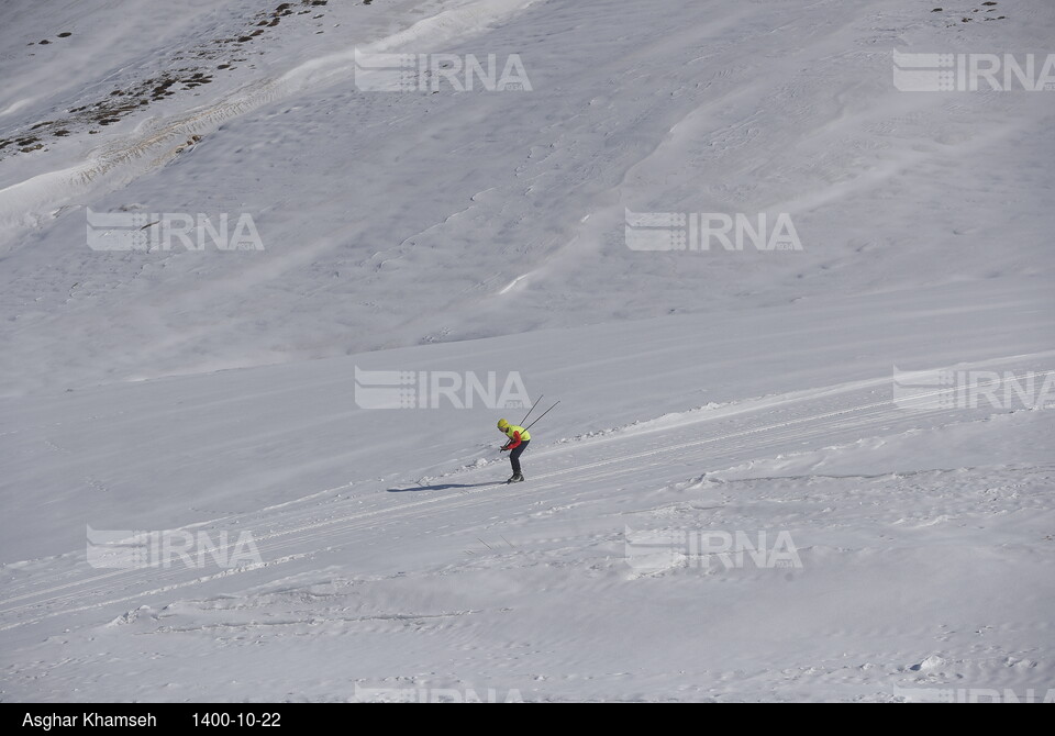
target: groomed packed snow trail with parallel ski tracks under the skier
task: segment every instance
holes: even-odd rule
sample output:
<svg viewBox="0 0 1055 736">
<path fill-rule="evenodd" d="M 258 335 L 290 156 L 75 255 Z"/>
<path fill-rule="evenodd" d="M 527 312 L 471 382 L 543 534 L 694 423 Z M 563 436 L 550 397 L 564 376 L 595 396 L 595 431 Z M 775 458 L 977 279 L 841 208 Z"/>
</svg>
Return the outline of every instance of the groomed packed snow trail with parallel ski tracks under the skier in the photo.
<svg viewBox="0 0 1055 736">
<path fill-rule="evenodd" d="M 1043 381 L 1055 370 L 1036 370 L 1053 354 L 988 360 L 984 366 L 1008 371 L 1034 372 Z M 38 623 L 45 618 L 71 616 L 120 604 L 153 601 L 170 591 L 206 586 L 232 576 L 295 562 L 321 564 L 321 558 L 342 549 L 369 544 L 408 522 L 429 520 L 432 528 L 471 526 L 506 514 L 522 515 L 531 505 L 581 503 L 591 497 L 607 497 L 614 487 L 641 487 L 684 481 L 756 459 L 793 454 L 845 442 L 848 437 L 890 436 L 987 419 L 992 409 L 914 412 L 895 405 L 889 395 L 889 377 L 855 381 L 736 402 L 733 405 L 690 413 L 673 426 L 644 428 L 601 438 L 548 447 L 532 447 L 522 462 L 529 481 L 523 486 L 488 483 L 504 468 L 506 460 L 488 462 L 431 479 L 430 486 L 465 486 L 456 492 L 429 492 L 430 488 L 378 488 L 376 482 L 357 480 L 316 491 L 275 509 L 249 512 L 203 522 L 195 532 L 251 529 L 262 564 L 200 575 L 174 564 L 171 569 L 99 571 L 87 567 L 80 551 L 52 560 L 29 560 L 8 568 L 5 596 L 0 607 L 0 631 Z M 947 393 L 948 389 L 922 392 L 917 400 Z M 773 415 L 784 419 L 773 421 Z M 685 441 L 686 434 L 704 436 Z M 598 457 L 599 456 L 599 457 Z M 895 471 L 896 472 L 896 471 Z M 573 490 L 574 489 L 574 490 Z M 413 493 L 408 500 L 406 493 Z M 424 498 L 417 498 L 417 495 Z M 366 504 L 366 509 L 362 506 Z M 473 512 L 471 515 L 466 512 Z M 260 531 L 266 529 L 266 531 Z M 229 547 L 233 548 L 235 542 Z M 316 559 L 318 558 L 318 559 Z M 24 572 L 32 573 L 24 579 Z M 274 575 L 274 570 L 268 570 Z"/>
</svg>

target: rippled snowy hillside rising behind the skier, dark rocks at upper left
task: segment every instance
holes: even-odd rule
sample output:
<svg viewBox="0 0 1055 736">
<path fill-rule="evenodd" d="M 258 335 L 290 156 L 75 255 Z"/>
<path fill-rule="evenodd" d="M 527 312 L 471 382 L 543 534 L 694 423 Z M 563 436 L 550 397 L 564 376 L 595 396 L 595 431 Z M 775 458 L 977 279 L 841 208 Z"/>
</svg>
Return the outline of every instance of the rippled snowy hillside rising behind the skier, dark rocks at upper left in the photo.
<svg viewBox="0 0 1055 736">
<path fill-rule="evenodd" d="M 991 23 L 907 0 L 466 0 L 402 16 L 330 3 L 320 20 L 284 18 L 241 45 L 238 68 L 210 70 L 211 83 L 2 161 L 0 384 L 16 393 L 1044 278 L 1050 96 L 907 93 L 891 81 L 895 47 L 1043 52 L 1050 5 L 1014 5 Z M 188 14 L 177 41 L 192 31 L 209 45 L 255 18 L 223 8 Z M 43 47 L 55 49 L 52 75 L 65 68 L 59 41 L 78 37 Z M 357 45 L 519 54 L 532 90 L 359 91 Z M 168 60 L 171 45 L 116 46 L 120 60 L 95 64 L 123 70 L 64 104 L 184 64 Z M 22 101 L 15 90 L 0 107 Z M 10 124 L 58 116 L 53 102 L 26 102 Z M 88 207 L 247 213 L 264 249 L 93 252 Z M 628 210 L 788 212 L 803 249 L 635 252 Z"/>
</svg>

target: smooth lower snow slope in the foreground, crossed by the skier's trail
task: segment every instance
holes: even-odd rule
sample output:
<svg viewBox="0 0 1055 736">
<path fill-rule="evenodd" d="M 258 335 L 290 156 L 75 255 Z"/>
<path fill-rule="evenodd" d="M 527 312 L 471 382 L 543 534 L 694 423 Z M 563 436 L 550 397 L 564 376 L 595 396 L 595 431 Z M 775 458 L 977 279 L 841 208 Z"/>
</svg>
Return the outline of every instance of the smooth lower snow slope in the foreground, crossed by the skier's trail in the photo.
<svg viewBox="0 0 1055 736">
<path fill-rule="evenodd" d="M 1051 409 L 891 399 L 891 364 L 1051 376 L 1037 293 L 941 308 L 977 294 L 956 290 L 7 400 L 4 695 L 1042 691 Z M 495 411 L 355 405 L 356 367 L 467 365 L 562 399 L 528 482 L 495 484 Z M 243 533 L 255 546 L 233 567 L 98 569 L 86 526 L 226 535 L 221 559 Z M 635 558 L 642 531 L 668 535 L 658 568 Z M 737 533 L 788 535 L 799 565 L 726 569 L 674 542 Z"/>
</svg>

